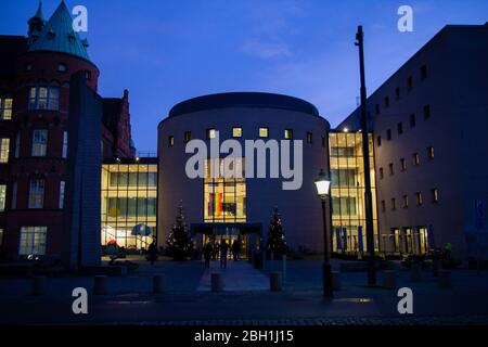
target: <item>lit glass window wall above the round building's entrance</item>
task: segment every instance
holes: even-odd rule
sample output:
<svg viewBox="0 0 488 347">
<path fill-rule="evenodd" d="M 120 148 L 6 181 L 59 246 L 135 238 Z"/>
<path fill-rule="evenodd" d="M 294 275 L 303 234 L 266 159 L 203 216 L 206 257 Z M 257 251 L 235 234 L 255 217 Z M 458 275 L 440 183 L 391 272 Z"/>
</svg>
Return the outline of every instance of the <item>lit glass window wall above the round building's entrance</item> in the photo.
<svg viewBox="0 0 488 347">
<path fill-rule="evenodd" d="M 204 180 L 204 221 L 245 222 L 246 221 L 246 180 L 244 179 L 244 158 L 235 158 L 223 170 L 226 162 L 208 159 Z M 219 172 L 213 178 L 211 164 L 219 165 Z M 224 178 L 226 177 L 226 178 Z"/>
</svg>

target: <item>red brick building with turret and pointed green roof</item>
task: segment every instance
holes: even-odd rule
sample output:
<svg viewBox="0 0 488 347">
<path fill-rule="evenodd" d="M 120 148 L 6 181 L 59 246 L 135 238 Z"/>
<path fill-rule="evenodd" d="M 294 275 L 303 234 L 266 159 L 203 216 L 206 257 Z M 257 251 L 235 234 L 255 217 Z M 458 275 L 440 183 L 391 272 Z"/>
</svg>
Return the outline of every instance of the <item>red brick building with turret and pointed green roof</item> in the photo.
<svg viewBox="0 0 488 347">
<path fill-rule="evenodd" d="M 97 93 L 100 74 L 72 21 L 64 2 L 49 21 L 39 4 L 27 37 L 0 36 L 0 255 L 5 259 L 61 255 L 69 187 L 69 80 L 81 70 Z M 100 100 L 103 158 L 133 157 L 128 91 Z"/>
</svg>

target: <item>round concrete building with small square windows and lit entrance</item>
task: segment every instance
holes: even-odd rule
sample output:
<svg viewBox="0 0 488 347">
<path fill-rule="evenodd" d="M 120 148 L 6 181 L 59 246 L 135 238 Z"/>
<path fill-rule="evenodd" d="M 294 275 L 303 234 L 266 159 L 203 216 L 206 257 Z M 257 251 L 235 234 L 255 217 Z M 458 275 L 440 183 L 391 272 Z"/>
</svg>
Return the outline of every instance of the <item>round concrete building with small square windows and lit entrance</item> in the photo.
<svg viewBox="0 0 488 347">
<path fill-rule="evenodd" d="M 281 94 L 220 93 L 174 106 L 158 125 L 158 245 L 182 201 L 196 246 L 239 239 L 246 255 L 264 246 L 278 207 L 290 248 L 323 252 L 314 179 L 329 168 L 329 129 L 312 104 Z"/>
</svg>

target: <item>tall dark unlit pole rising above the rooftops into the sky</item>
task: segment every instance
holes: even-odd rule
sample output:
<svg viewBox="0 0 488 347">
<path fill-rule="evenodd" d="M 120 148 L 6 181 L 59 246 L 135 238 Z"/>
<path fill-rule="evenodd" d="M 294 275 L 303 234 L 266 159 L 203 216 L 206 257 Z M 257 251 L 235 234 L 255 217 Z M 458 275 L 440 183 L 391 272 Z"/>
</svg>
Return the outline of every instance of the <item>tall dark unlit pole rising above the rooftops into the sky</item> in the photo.
<svg viewBox="0 0 488 347">
<path fill-rule="evenodd" d="M 374 266 L 374 226 L 373 226 L 373 198 L 371 193 L 370 172 L 370 139 L 367 116 L 367 90 L 364 78 L 364 48 L 362 26 L 358 26 L 356 34 L 356 46 L 359 47 L 359 66 L 361 75 L 361 133 L 362 133 L 362 155 L 364 162 L 364 203 L 367 223 L 367 245 L 368 245 L 368 285 L 376 285 L 376 271 Z"/>
</svg>

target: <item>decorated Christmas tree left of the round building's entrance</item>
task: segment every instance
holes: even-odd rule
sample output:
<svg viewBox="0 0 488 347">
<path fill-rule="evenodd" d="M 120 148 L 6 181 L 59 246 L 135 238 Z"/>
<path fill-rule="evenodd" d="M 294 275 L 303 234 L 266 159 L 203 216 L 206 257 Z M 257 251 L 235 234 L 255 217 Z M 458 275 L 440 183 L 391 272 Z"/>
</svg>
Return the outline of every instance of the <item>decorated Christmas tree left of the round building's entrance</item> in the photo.
<svg viewBox="0 0 488 347">
<path fill-rule="evenodd" d="M 169 234 L 166 243 L 166 254 L 175 260 L 185 260 L 192 254 L 193 241 L 187 229 L 183 215 L 183 204 L 181 201 L 180 206 L 178 207 L 176 223 L 172 226 L 171 233 Z"/>
</svg>

